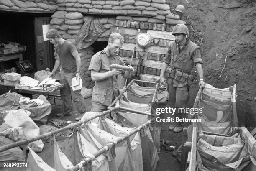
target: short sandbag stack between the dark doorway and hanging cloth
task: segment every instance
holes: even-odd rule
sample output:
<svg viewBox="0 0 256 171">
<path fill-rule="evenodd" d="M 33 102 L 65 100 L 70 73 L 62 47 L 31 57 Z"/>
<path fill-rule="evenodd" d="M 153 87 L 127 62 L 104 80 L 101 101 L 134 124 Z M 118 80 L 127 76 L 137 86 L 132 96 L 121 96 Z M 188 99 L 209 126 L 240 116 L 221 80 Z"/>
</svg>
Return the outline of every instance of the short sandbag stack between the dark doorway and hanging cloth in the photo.
<svg viewBox="0 0 256 171">
<path fill-rule="evenodd" d="M 82 18 L 84 18 L 84 16 L 81 13 L 67 13 L 65 15 L 64 24 L 60 26 L 61 31 L 67 32 L 65 34 L 62 34 L 62 38 L 74 43 L 77 37 L 77 33 L 83 26 Z"/>
</svg>

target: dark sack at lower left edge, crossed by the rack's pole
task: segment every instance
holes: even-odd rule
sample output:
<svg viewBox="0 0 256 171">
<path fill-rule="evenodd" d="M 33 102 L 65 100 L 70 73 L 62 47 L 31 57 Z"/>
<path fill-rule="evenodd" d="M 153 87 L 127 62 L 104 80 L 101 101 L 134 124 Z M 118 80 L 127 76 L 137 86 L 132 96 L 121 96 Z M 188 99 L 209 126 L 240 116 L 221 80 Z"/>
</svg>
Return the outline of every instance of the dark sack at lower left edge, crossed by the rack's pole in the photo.
<svg viewBox="0 0 256 171">
<path fill-rule="evenodd" d="M 13 144 L 14 141 L 4 136 L 0 136 L 0 146 Z M 24 162 L 26 156 L 19 147 L 10 148 L 8 150 L 0 152 L 0 167 L 3 167 L 4 163 L 10 162 Z"/>
</svg>

